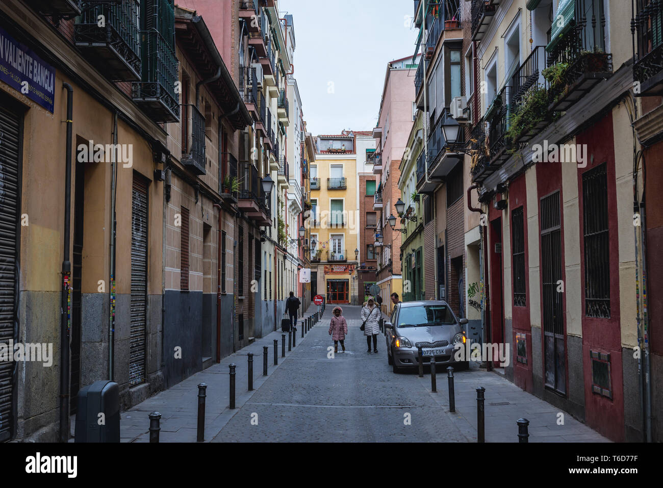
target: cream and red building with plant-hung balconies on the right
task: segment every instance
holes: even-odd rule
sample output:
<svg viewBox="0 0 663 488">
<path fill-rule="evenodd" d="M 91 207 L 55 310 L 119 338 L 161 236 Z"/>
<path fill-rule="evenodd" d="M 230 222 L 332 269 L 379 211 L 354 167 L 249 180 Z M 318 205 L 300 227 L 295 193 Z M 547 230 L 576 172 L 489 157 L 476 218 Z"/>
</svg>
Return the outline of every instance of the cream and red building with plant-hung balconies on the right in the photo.
<svg viewBox="0 0 663 488">
<path fill-rule="evenodd" d="M 649 7 L 638 5 L 645 38 L 660 15 Z M 467 80 L 468 148 L 487 223 L 487 340 L 511 344 L 507 378 L 615 441 L 660 432 L 644 374 L 645 247 L 634 219 L 646 208 L 632 129 L 660 102 L 634 84 L 653 72 L 632 66 L 617 22 L 630 15 L 629 2 L 513 0 L 473 1 L 469 16 L 481 60 Z M 644 54 L 652 44 L 639 39 Z"/>
</svg>

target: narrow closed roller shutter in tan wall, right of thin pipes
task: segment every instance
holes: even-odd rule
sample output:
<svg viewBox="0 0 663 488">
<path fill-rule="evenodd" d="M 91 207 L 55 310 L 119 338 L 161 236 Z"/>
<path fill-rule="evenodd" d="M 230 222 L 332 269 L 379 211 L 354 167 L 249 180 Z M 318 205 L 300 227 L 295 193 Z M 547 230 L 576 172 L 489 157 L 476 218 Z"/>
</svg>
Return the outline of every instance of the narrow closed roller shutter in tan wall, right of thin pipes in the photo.
<svg viewBox="0 0 663 488">
<path fill-rule="evenodd" d="M 131 208 L 131 340 L 129 383 L 145 381 L 147 341 L 147 182 L 133 177 Z"/>
</svg>

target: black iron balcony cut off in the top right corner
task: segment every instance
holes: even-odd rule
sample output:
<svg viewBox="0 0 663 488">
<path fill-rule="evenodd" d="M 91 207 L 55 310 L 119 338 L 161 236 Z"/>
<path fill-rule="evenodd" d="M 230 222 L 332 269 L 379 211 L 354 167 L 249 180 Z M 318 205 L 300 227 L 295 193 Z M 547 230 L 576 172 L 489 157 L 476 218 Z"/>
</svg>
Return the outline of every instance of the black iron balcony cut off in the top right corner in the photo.
<svg viewBox="0 0 663 488">
<path fill-rule="evenodd" d="M 640 83 L 636 96 L 663 95 L 663 3 L 656 0 L 636 0 L 635 25 L 636 54 L 633 62 L 633 80 Z"/>
</svg>

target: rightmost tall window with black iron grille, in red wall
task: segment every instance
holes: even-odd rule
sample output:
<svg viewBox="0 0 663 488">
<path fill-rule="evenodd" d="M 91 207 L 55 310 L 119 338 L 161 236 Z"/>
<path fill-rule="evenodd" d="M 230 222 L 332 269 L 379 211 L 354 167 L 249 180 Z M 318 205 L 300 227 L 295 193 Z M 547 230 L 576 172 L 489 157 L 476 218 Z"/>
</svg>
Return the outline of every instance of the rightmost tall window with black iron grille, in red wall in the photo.
<svg viewBox="0 0 663 488">
<path fill-rule="evenodd" d="M 585 316 L 610 318 L 610 249 L 606 165 L 582 175 Z"/>
</svg>

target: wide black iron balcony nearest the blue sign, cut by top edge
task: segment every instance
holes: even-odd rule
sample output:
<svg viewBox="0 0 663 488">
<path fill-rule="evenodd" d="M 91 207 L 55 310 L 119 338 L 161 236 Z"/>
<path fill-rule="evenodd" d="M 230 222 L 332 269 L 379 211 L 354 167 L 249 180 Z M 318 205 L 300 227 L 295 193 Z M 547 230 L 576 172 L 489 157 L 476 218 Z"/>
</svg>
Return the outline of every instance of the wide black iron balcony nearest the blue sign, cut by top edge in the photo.
<svg viewBox="0 0 663 488">
<path fill-rule="evenodd" d="M 140 2 L 125 0 L 120 5 L 101 1 L 81 4 L 74 23 L 76 47 L 94 66 L 113 81 L 141 80 Z M 105 27 L 99 27 L 103 15 Z"/>
</svg>

